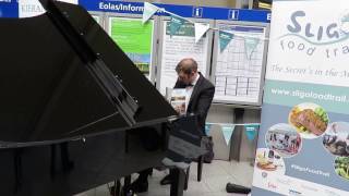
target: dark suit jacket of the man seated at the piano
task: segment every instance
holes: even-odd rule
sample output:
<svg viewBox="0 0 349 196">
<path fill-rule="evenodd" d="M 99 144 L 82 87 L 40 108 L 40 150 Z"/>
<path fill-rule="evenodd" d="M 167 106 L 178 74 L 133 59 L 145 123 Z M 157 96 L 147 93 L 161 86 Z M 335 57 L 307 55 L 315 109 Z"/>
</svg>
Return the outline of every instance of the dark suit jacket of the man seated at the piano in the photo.
<svg viewBox="0 0 349 196">
<path fill-rule="evenodd" d="M 194 86 L 189 100 L 186 114 L 194 113 L 197 115 L 197 126 L 205 135 L 205 121 L 212 100 L 215 95 L 215 86 L 206 79 L 200 72 L 200 77 Z M 186 85 L 177 81 L 174 88 L 185 88 Z"/>
</svg>

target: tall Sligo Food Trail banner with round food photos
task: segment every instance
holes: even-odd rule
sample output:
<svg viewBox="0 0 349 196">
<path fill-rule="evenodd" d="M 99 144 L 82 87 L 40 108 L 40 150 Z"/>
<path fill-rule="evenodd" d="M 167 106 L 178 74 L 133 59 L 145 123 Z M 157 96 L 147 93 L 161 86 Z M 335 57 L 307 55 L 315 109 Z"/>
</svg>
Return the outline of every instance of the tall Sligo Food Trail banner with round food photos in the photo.
<svg viewBox="0 0 349 196">
<path fill-rule="evenodd" d="M 348 8 L 273 2 L 253 196 L 349 195 Z"/>
</svg>

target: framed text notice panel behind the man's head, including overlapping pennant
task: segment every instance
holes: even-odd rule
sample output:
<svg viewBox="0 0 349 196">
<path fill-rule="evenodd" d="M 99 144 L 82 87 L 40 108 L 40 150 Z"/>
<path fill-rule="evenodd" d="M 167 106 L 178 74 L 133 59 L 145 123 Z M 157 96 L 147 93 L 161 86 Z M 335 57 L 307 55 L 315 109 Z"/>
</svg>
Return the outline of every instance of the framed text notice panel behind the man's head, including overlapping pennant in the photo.
<svg viewBox="0 0 349 196">
<path fill-rule="evenodd" d="M 157 88 L 165 95 L 166 87 L 172 88 L 177 81 L 176 65 L 183 58 L 191 57 L 197 62 L 197 70 L 204 76 L 209 74 L 212 30 L 206 29 L 202 37 L 196 23 L 213 26 L 210 20 L 184 19 L 176 15 L 160 21 L 160 45 L 158 58 Z M 200 26 L 201 27 L 201 26 Z"/>
</svg>

